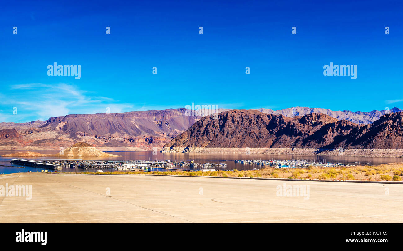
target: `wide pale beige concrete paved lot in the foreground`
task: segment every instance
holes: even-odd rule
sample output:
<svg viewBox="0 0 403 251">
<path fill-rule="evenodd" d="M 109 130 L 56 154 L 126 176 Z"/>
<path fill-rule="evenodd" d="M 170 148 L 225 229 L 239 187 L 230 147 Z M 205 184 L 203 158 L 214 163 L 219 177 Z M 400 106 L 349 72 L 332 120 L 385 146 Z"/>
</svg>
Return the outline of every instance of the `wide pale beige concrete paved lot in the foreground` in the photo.
<svg viewBox="0 0 403 251">
<path fill-rule="evenodd" d="M 400 184 L 45 173 L 6 183 L 32 186 L 32 198 L 0 196 L 0 223 L 403 222 Z M 284 183 L 309 185 L 309 199 L 277 196 Z"/>
</svg>

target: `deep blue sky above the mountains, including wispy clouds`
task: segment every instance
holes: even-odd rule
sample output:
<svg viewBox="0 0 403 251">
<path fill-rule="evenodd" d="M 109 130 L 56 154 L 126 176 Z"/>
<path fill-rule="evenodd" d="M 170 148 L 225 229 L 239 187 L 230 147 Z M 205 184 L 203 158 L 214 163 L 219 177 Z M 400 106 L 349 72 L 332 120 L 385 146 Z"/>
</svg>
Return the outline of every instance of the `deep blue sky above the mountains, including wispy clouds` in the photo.
<svg viewBox="0 0 403 251">
<path fill-rule="evenodd" d="M 0 122 L 192 103 L 274 110 L 403 107 L 398 1 L 2 5 Z M 81 78 L 48 76 L 54 62 L 81 65 Z M 330 62 L 357 65 L 357 79 L 324 76 Z"/>
</svg>

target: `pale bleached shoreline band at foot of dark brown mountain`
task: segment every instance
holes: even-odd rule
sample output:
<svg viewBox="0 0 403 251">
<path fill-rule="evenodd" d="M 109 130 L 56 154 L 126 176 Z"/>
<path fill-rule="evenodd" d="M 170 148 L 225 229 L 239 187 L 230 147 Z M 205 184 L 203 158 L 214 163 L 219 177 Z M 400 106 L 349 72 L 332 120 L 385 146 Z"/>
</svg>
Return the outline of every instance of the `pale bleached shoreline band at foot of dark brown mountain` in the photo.
<svg viewBox="0 0 403 251">
<path fill-rule="evenodd" d="M 344 157 L 403 157 L 403 149 L 321 149 L 321 148 L 222 148 L 164 147 L 162 153 L 294 154 Z"/>
</svg>

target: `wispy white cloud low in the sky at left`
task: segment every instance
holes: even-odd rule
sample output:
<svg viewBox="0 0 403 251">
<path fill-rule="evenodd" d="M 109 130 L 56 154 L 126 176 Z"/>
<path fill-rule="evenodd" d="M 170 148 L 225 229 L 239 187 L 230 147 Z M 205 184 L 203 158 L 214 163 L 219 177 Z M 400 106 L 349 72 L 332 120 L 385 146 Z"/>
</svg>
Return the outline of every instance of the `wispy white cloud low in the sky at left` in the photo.
<svg viewBox="0 0 403 251">
<path fill-rule="evenodd" d="M 71 84 L 18 84 L 9 86 L 7 95 L 0 95 L 0 122 L 46 120 L 66 114 L 104 113 L 133 110 L 133 104 L 120 103 L 107 97 L 80 90 Z M 17 107 L 17 114 L 13 114 Z M 91 112 L 92 111 L 92 112 Z"/>
</svg>

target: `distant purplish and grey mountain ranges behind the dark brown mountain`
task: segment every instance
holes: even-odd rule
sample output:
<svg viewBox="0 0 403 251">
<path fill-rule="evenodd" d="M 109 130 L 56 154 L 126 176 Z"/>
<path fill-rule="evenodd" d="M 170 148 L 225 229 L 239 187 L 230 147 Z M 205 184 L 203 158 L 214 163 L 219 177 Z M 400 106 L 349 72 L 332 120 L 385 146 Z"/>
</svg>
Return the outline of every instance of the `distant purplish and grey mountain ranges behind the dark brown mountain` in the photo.
<svg viewBox="0 0 403 251">
<path fill-rule="evenodd" d="M 151 151 L 154 147 L 161 149 L 204 116 L 227 111 L 229 109 L 197 110 L 192 113 L 181 108 L 111 114 L 69 114 L 27 123 L 1 122 L 0 149 L 60 150 L 60 147 L 84 141 L 102 150 L 125 147 L 129 151 Z M 395 107 L 383 111 L 351 112 L 293 107 L 276 111 L 270 109 L 255 111 L 272 115 L 269 117 L 273 118 L 282 115 L 284 121 L 291 117 L 320 112 L 335 121 L 347 120 L 344 123 L 353 122 L 364 126 L 377 121 L 385 113 L 402 110 Z"/>
</svg>

